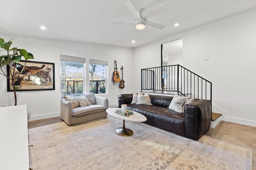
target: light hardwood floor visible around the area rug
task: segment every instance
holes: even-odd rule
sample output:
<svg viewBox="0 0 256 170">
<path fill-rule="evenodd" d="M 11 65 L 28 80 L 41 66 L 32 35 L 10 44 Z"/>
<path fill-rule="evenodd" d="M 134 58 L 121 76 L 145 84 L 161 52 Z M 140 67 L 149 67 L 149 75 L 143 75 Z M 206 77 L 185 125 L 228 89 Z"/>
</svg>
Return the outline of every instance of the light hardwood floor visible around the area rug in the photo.
<svg viewBox="0 0 256 170">
<path fill-rule="evenodd" d="M 60 117 L 28 122 L 28 129 L 62 121 Z M 215 128 L 210 128 L 205 135 L 234 143 L 253 151 L 253 170 L 256 170 L 256 127 L 221 121 Z"/>
</svg>

